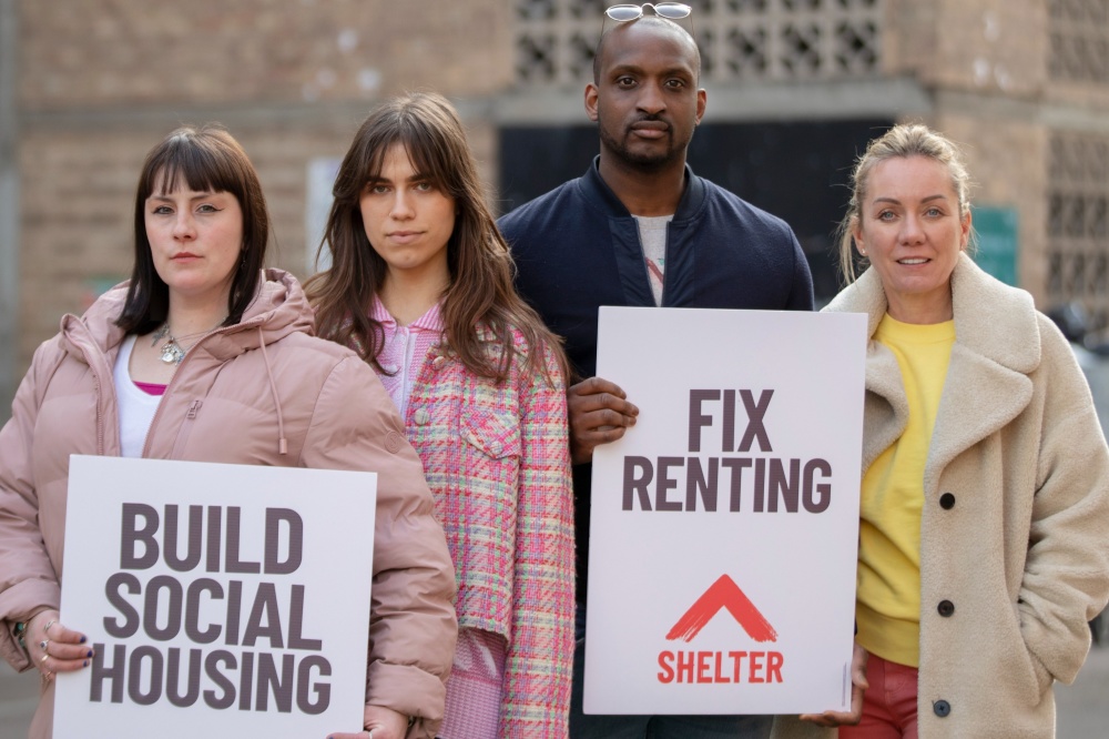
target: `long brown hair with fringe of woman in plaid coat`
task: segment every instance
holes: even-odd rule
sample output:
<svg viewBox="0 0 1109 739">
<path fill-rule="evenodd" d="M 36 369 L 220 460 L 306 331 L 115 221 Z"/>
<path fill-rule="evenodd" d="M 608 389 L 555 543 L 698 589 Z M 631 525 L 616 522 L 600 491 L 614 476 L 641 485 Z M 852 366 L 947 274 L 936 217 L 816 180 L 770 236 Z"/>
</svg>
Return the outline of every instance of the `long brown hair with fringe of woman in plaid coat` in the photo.
<svg viewBox="0 0 1109 739">
<path fill-rule="evenodd" d="M 513 354 L 520 351 L 512 340 L 515 328 L 528 347 L 526 373 L 550 381 L 543 361 L 546 345 L 564 377 L 567 364 L 559 341 L 512 286 L 512 257 L 486 205 L 458 113 L 446 98 L 431 92 L 399 95 L 383 103 L 358 129 L 343 158 L 318 253 L 330 249 L 332 267 L 305 283 L 316 308 L 316 333 L 354 346 L 375 370 L 384 372 L 377 355 L 385 334 L 369 308 L 387 267 L 366 236 L 359 201 L 366 183 L 379 175 L 385 154 L 396 144 L 404 146 L 413 166 L 452 198 L 458 209 L 447 241 L 450 284 L 442 296 L 447 345 L 470 372 L 500 383 L 508 377 Z M 503 348 L 499 355 L 490 355 L 482 345 L 480 326 L 500 342 Z"/>
</svg>

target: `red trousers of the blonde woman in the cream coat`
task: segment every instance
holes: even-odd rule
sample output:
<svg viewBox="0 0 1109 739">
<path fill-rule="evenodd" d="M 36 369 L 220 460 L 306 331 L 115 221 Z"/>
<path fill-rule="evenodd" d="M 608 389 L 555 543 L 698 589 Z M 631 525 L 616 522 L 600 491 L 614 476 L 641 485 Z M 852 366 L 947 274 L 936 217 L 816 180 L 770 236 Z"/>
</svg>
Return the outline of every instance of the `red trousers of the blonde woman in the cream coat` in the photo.
<svg viewBox="0 0 1109 739">
<path fill-rule="evenodd" d="M 840 727 L 840 739 L 916 739 L 916 668 L 871 655 L 866 680 L 863 720 Z"/>
</svg>

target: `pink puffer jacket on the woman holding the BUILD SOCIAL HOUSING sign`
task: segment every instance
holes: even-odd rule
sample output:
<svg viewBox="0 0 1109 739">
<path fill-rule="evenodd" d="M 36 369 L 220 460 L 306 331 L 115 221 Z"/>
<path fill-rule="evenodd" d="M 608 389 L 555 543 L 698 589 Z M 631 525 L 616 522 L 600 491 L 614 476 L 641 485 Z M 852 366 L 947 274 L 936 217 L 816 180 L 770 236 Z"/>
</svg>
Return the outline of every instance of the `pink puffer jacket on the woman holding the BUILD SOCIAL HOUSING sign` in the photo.
<svg viewBox="0 0 1109 739">
<path fill-rule="evenodd" d="M 434 737 L 457 625 L 454 567 L 420 462 L 369 366 L 311 336 L 312 311 L 292 275 L 265 277 L 241 323 L 189 351 L 143 456 L 377 472 L 366 702 L 419 717 L 409 736 Z M 120 454 L 112 366 L 124 335 L 113 321 L 125 292 L 62 318 L 0 431 L 0 654 L 18 670 L 30 664 L 14 624 L 59 605 L 69 457 Z M 52 712 L 48 687 L 32 737 L 50 736 Z"/>
</svg>

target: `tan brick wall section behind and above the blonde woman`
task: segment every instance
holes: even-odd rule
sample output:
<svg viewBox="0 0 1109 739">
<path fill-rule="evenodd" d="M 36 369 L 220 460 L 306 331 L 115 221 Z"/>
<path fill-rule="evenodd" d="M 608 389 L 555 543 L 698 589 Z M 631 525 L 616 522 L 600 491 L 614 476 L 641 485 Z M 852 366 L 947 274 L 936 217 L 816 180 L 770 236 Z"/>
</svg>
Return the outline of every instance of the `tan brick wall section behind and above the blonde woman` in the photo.
<svg viewBox="0 0 1109 739">
<path fill-rule="evenodd" d="M 1048 133 L 1044 110 L 1060 98 L 1049 79 L 1046 0 L 894 0 L 887 70 L 930 90 L 926 122 L 964 145 L 974 199 L 1016 209 L 1018 277 L 1046 307 Z M 1098 98 L 1083 87 L 1086 102 Z M 1074 97 L 1074 95 L 1071 95 Z"/>
</svg>

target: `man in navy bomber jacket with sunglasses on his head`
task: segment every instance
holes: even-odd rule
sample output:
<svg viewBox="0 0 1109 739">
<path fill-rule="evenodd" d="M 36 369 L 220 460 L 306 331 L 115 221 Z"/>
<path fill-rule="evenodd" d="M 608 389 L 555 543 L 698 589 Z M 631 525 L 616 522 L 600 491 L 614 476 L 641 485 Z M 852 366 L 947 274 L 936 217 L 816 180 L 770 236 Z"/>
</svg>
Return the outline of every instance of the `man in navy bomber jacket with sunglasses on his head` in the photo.
<svg viewBox="0 0 1109 739">
<path fill-rule="evenodd" d="M 644 16 L 615 24 L 598 45 L 594 79 L 586 87 L 586 112 L 598 124 L 600 156 L 583 176 L 499 221 L 517 263 L 518 290 L 566 338 L 578 375 L 567 395 L 577 498 L 579 637 L 588 565 L 589 463 L 593 448 L 623 436 L 639 413 L 619 386 L 594 376 L 598 307 L 813 310 L 812 276 L 790 226 L 694 175 L 685 164 L 689 142 L 704 114 L 699 73 L 696 44 L 676 23 Z M 669 223 L 658 226 L 659 219 Z M 641 231 L 643 223 L 658 226 L 653 249 L 652 237 Z M 682 347 L 661 345 L 659 351 L 680 356 Z M 571 737 L 643 737 L 648 731 L 655 737 L 769 736 L 771 717 L 762 716 L 583 716 L 583 656 L 579 638 Z"/>
</svg>

